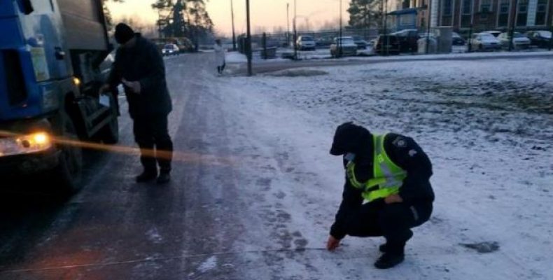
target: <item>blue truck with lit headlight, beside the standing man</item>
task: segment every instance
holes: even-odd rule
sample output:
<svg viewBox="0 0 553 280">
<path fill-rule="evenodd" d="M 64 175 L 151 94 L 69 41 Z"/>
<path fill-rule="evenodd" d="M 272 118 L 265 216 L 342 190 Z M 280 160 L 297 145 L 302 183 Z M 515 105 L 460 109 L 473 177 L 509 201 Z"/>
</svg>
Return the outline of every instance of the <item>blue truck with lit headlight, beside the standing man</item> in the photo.
<svg viewBox="0 0 553 280">
<path fill-rule="evenodd" d="M 0 186 L 44 174 L 62 193 L 80 187 L 81 147 L 118 141 L 102 0 L 0 1 Z"/>
</svg>

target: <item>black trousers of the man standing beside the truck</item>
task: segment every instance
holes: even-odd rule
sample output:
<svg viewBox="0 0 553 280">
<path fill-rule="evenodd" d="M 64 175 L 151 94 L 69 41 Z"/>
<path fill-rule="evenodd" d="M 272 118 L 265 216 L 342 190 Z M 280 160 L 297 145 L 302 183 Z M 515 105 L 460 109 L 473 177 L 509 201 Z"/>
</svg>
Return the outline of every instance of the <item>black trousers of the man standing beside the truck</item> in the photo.
<svg viewBox="0 0 553 280">
<path fill-rule="evenodd" d="M 169 137 L 167 114 L 134 116 L 134 140 L 140 147 L 140 162 L 145 172 L 171 172 L 173 142 Z"/>
</svg>

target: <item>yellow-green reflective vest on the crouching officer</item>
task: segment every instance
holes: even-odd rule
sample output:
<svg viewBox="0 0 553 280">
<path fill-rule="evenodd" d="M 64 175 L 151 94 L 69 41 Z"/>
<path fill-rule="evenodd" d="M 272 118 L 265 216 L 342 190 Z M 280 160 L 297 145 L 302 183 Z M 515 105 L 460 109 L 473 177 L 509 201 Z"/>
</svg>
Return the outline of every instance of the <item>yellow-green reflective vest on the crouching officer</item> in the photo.
<svg viewBox="0 0 553 280">
<path fill-rule="evenodd" d="M 363 190 L 362 196 L 367 202 L 399 193 L 407 172 L 398 167 L 386 154 L 384 150 L 384 135 L 372 135 L 373 143 L 373 178 L 366 183 L 360 183 L 355 177 L 355 163 L 353 161 L 346 165 L 346 176 L 354 188 Z"/>
</svg>

